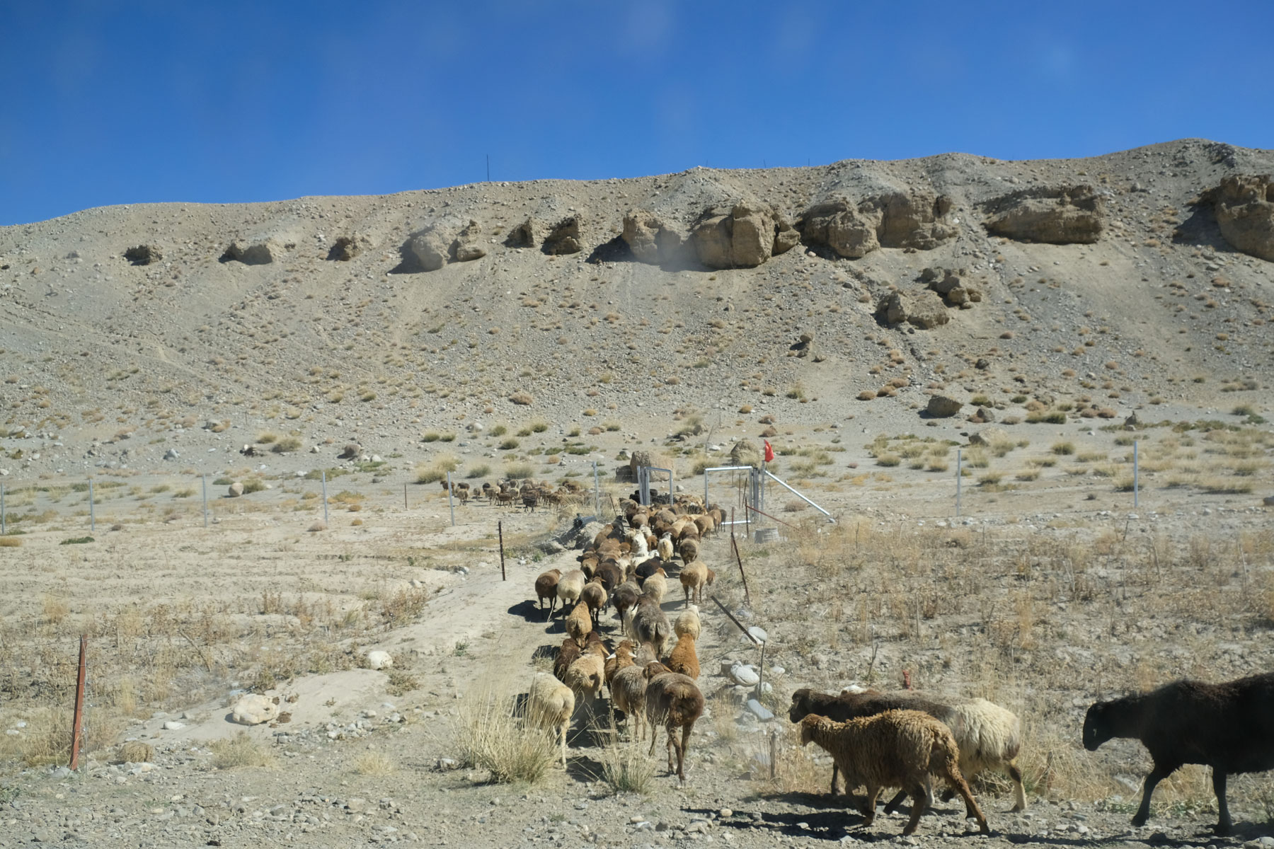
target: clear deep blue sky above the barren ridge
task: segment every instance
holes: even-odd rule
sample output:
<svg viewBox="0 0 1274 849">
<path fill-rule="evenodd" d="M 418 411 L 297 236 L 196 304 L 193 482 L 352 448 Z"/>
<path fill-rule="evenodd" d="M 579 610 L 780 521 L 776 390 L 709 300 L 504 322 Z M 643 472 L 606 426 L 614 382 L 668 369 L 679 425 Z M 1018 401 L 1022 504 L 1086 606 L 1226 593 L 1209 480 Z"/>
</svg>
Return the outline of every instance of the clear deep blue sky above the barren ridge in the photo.
<svg viewBox="0 0 1274 849">
<path fill-rule="evenodd" d="M 1274 146 L 1274 1 L 0 4 L 0 224 L 108 204 Z"/>
</svg>

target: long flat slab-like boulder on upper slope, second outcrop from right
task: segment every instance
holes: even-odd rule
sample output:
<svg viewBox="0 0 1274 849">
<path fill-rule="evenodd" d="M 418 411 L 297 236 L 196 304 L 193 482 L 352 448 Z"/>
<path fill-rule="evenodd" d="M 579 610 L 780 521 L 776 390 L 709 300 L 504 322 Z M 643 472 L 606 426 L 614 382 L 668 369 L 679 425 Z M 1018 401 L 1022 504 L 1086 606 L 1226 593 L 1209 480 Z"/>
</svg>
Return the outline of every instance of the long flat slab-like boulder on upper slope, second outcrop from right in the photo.
<svg viewBox="0 0 1274 849">
<path fill-rule="evenodd" d="M 1018 242 L 1092 243 L 1102 234 L 1105 204 L 1092 186 L 1042 186 L 986 204 L 986 232 Z"/>
</svg>

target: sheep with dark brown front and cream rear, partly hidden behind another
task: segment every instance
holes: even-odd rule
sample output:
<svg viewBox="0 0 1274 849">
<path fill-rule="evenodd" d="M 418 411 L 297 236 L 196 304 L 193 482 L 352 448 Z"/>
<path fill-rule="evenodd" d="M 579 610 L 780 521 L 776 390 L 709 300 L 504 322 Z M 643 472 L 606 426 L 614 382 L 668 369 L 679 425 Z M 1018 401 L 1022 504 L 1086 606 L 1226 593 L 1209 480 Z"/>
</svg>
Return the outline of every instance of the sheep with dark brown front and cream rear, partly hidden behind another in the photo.
<svg viewBox="0 0 1274 849">
<path fill-rule="evenodd" d="M 919 694 L 880 692 L 878 690 L 842 690 L 838 696 L 801 689 L 792 694 L 787 718 L 800 722 L 808 714 L 846 720 L 883 713 L 885 710 L 924 710 L 947 723 L 961 751 L 961 774 L 968 780 L 985 769 L 1003 770 L 1013 779 L 1013 811 L 1027 806 L 1022 787 L 1022 770 L 1015 759 L 1022 748 L 1022 723 L 1012 712 L 985 699 L 961 700 L 940 704 Z M 836 796 L 836 766 L 832 768 L 832 796 Z M 848 790 L 848 787 L 846 787 Z M 902 802 L 899 793 L 885 806 L 887 812 L 897 810 Z M 968 815 L 972 816 L 972 810 Z"/>
</svg>

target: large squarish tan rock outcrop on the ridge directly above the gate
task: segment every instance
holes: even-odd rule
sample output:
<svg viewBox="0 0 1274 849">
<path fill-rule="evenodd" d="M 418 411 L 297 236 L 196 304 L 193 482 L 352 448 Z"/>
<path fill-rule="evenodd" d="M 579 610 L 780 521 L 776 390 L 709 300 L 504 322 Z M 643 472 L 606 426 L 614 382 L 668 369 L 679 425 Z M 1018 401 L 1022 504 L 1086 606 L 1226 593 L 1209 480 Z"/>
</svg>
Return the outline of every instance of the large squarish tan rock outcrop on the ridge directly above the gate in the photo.
<svg viewBox="0 0 1274 849">
<path fill-rule="evenodd" d="M 790 251 L 799 238 L 771 206 L 741 200 L 705 211 L 691 229 L 691 242 L 699 262 L 710 269 L 754 269 Z"/>
</svg>

